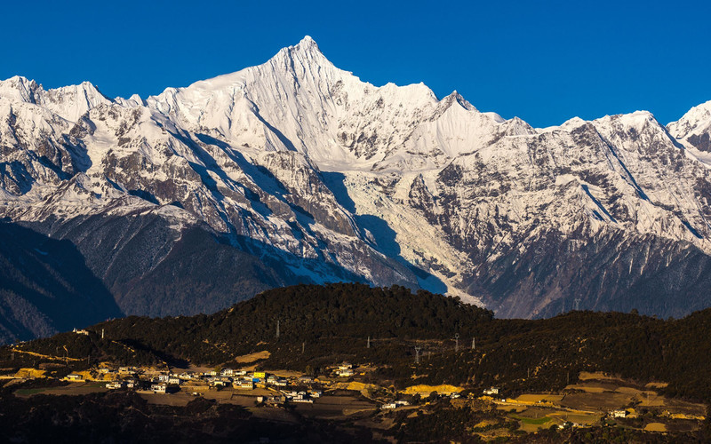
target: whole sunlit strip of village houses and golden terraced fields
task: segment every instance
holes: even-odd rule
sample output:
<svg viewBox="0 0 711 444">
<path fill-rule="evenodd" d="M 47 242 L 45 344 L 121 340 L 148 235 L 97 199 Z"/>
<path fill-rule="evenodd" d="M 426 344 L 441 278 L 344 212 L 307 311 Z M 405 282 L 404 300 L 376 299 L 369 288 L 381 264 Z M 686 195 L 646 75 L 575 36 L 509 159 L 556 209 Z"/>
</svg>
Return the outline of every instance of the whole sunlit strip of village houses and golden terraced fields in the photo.
<svg viewBox="0 0 711 444">
<path fill-rule="evenodd" d="M 81 331 L 77 332 L 81 333 Z M 19 348 L 16 353 L 23 352 Z M 411 385 L 403 390 L 380 382 L 371 364 L 337 362 L 320 369 L 317 376 L 289 369 L 263 369 L 269 358 L 262 351 L 237 357 L 234 366 L 185 368 L 130 366 L 100 362 L 89 369 L 60 357 L 35 353 L 37 358 L 54 358 L 39 368 L 23 368 L 0 375 L 8 385 L 46 379 L 46 388 L 15 391 L 15 396 L 37 393 L 83 395 L 92 392 L 132 391 L 149 403 L 187 406 L 196 398 L 247 408 L 253 415 L 278 421 L 296 416 L 348 419 L 371 429 L 392 426 L 395 411 L 406 415 L 427 411 L 443 401 L 451 408 L 472 407 L 497 412 L 506 422 L 518 423 L 522 432 L 551 427 L 580 428 L 593 425 L 621 426 L 648 432 L 693 431 L 706 418 L 706 408 L 659 395 L 663 383 L 635 385 L 603 373 L 581 372 L 579 381 L 562 392 L 507 393 L 500 387 L 472 388 L 452 385 Z M 79 360 L 75 360 L 78 362 Z M 60 374 L 51 369 L 63 368 Z M 54 375 L 52 377 L 52 375 Z M 296 415 L 296 416 L 294 416 Z M 493 424 L 493 423 L 492 423 Z M 490 425 L 482 425 L 491 428 Z M 503 423 L 501 423 L 503 424 Z M 500 424 L 499 424 L 500 425 Z M 483 432 L 494 439 L 507 433 L 505 427 Z"/>
</svg>

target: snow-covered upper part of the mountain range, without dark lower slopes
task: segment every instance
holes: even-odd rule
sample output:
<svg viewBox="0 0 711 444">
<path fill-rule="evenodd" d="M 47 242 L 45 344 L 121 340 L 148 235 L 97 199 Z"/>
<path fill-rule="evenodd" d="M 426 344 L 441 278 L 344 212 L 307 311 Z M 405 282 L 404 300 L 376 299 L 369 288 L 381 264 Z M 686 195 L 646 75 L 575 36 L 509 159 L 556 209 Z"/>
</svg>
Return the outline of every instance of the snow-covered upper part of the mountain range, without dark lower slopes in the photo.
<svg viewBox="0 0 711 444">
<path fill-rule="evenodd" d="M 268 246 L 314 281 L 341 279 L 336 267 L 494 306 L 495 267 L 551 236 L 711 254 L 709 134 L 711 102 L 666 128 L 635 112 L 534 129 L 457 91 L 364 83 L 306 36 L 147 99 L 0 82 L 0 216 L 155 211 L 177 232 L 206 224 Z"/>
</svg>

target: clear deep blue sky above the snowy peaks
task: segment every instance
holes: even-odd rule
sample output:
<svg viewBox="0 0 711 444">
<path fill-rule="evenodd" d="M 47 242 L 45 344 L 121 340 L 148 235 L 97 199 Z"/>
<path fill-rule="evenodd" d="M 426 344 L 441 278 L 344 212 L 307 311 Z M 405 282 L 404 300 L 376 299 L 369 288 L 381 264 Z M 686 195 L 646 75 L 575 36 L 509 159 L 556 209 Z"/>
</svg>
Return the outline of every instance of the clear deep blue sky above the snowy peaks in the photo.
<svg viewBox="0 0 711 444">
<path fill-rule="evenodd" d="M 0 78 L 109 97 L 260 64 L 313 36 L 363 81 L 424 82 L 534 126 L 711 99 L 709 2 L 4 2 Z"/>
</svg>

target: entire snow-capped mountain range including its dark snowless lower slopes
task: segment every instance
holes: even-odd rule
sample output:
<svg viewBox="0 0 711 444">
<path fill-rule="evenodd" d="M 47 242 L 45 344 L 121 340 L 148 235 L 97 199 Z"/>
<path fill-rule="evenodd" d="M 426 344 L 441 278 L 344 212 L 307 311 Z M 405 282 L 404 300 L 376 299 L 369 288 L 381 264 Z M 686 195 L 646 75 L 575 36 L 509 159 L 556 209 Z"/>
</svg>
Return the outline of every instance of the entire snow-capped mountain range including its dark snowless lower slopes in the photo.
<svg viewBox="0 0 711 444">
<path fill-rule="evenodd" d="M 711 303 L 709 134 L 711 102 L 535 129 L 364 83 L 307 36 L 146 99 L 0 82 L 0 213 L 74 242 L 124 313 L 360 280 L 502 316 L 680 315 Z"/>
</svg>

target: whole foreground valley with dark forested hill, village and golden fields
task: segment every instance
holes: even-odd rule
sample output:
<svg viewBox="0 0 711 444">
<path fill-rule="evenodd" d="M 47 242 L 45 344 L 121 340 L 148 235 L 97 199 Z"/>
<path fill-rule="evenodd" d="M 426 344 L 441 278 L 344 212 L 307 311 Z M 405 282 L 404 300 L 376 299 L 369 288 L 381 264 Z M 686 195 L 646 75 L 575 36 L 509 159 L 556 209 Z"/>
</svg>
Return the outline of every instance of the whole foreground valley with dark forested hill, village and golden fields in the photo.
<svg viewBox="0 0 711 444">
<path fill-rule="evenodd" d="M 101 431 L 116 437 L 702 442 L 711 391 L 697 333 L 709 321 L 499 320 L 402 287 L 275 289 L 211 316 L 130 317 L 3 347 L 0 396 L 27 417 L 0 430 L 38 436 L 28 421 L 52 408 L 67 418 L 52 430 L 78 439 L 90 403 L 122 418 Z"/>
</svg>

